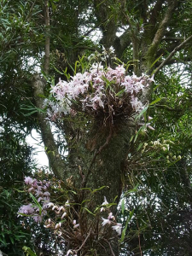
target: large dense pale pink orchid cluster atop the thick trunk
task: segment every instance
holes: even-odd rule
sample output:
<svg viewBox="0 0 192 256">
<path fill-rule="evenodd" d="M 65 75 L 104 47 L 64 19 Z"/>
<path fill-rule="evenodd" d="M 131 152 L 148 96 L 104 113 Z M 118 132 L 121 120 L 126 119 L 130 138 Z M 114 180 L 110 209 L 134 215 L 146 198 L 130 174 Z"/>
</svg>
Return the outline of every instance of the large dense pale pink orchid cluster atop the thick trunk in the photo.
<svg viewBox="0 0 192 256">
<path fill-rule="evenodd" d="M 102 62 L 93 63 L 89 71 L 76 73 L 70 81 L 60 79 L 51 86 L 50 100 L 45 100 L 44 106 L 52 120 L 78 112 L 95 118 L 102 115 L 105 119 L 129 119 L 143 111 L 146 102 L 139 98 L 153 81 L 153 77 L 144 74 L 126 75 L 124 64 L 113 69 L 103 67 Z"/>
</svg>

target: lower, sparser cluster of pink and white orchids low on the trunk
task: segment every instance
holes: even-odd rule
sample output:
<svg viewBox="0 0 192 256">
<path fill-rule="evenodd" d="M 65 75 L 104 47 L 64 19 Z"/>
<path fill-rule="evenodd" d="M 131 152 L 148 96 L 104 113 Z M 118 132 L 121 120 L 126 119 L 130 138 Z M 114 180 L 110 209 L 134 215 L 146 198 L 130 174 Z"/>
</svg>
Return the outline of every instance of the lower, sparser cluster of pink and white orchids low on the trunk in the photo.
<svg viewBox="0 0 192 256">
<path fill-rule="evenodd" d="M 46 180 L 38 181 L 32 177 L 26 177 L 25 183 L 28 192 L 34 195 L 34 198 L 32 198 L 34 203 L 20 207 L 18 211 L 19 215 L 27 216 L 28 218 L 31 217 L 36 222 L 44 222 L 44 227 L 52 230 L 55 236 L 60 237 L 61 242 L 69 242 L 73 248 L 67 251 L 67 256 L 77 256 L 84 240 L 88 238 L 94 240 L 96 231 L 99 232 L 99 236 L 104 238 L 108 238 L 110 232 L 113 232 L 113 230 L 116 231 L 118 236 L 121 235 L 122 224 L 117 223 L 113 212 L 110 212 L 109 208 L 111 205 L 108 203 L 106 197 L 104 197 L 102 205 L 96 208 L 95 212 L 99 218 L 93 219 L 90 229 L 84 223 L 84 221 L 86 222 L 85 215 L 89 213 L 87 211 L 81 211 L 79 214 L 75 210 L 75 206 L 79 204 L 67 200 L 63 205 L 59 205 L 50 201 L 50 194 L 47 189 L 52 187 L 52 183 Z M 102 218 L 100 216 L 103 212 L 107 212 L 108 218 Z M 84 217 L 82 217 L 82 214 L 85 214 Z M 96 230 L 94 226 L 96 226 Z M 98 227 L 100 227 L 99 230 Z"/>
</svg>

